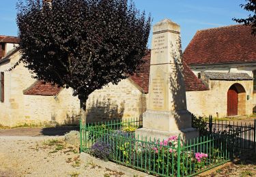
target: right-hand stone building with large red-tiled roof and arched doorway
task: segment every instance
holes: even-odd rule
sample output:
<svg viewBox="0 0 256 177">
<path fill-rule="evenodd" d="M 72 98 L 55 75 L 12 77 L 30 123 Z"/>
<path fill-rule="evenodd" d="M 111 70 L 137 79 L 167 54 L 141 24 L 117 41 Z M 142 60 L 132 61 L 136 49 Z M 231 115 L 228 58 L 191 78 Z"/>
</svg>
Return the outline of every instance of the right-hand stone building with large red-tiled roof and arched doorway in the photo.
<svg viewBox="0 0 256 177">
<path fill-rule="evenodd" d="M 187 94 L 191 112 L 220 117 L 253 114 L 256 37 L 251 35 L 251 27 L 232 25 L 197 31 L 183 59 L 209 88 Z"/>
</svg>

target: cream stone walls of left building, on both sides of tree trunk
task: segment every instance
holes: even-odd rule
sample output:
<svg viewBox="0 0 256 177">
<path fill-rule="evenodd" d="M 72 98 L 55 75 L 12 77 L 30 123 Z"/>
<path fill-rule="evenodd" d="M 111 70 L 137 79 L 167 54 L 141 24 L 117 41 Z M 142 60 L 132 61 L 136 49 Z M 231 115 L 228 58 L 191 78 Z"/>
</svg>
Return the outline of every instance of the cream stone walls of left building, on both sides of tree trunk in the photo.
<svg viewBox="0 0 256 177">
<path fill-rule="evenodd" d="M 0 71 L 12 67 L 20 58 L 19 52 L 8 63 L 0 65 Z M 56 96 L 23 95 L 35 79 L 23 63 L 14 70 L 5 71 L 5 102 L 0 103 L 0 124 L 19 125 L 77 124 L 80 102 L 72 96 L 72 88 L 62 89 Z M 141 88 L 130 79 L 118 85 L 109 84 L 94 91 L 87 100 L 87 122 L 121 118 L 141 118 L 146 110 L 146 97 Z"/>
</svg>

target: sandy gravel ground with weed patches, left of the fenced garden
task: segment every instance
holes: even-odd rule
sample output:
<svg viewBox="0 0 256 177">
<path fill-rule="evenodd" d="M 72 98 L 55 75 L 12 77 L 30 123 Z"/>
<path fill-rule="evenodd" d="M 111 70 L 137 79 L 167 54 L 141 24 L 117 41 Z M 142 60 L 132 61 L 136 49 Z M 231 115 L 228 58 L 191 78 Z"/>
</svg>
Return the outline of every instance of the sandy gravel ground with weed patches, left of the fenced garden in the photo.
<svg viewBox="0 0 256 177">
<path fill-rule="evenodd" d="M 126 176 L 79 159 L 63 136 L 0 136 L 0 176 Z"/>
</svg>

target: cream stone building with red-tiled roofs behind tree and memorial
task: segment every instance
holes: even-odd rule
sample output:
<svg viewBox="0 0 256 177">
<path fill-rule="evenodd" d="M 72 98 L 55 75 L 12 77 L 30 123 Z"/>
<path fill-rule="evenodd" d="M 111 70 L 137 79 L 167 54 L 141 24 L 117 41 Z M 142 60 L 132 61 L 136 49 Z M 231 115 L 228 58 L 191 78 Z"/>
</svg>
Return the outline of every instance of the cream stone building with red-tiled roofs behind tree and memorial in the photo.
<svg viewBox="0 0 256 177">
<path fill-rule="evenodd" d="M 20 63 L 7 71 L 20 59 L 18 38 L 0 41 L 12 46 L 0 58 L 3 74 L 4 95 L 0 102 L 0 124 L 7 126 L 45 125 L 50 123 L 72 124 L 79 120 L 80 103 L 72 96 L 72 89 L 58 88 L 49 83 L 34 80 L 29 70 Z M 150 51 L 144 58 L 143 73 L 122 80 L 117 85 L 109 84 L 94 91 L 87 100 L 87 122 L 109 119 L 141 118 L 147 108 L 147 93 L 150 78 Z M 184 64 L 186 91 L 201 91 L 208 88 Z"/>
</svg>

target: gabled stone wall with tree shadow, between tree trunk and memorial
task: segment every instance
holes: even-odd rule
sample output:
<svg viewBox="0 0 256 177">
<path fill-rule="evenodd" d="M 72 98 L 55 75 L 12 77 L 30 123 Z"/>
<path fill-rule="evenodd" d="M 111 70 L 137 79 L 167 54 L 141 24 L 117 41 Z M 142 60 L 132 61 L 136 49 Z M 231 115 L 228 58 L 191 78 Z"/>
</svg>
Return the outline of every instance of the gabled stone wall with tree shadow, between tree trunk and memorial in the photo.
<svg viewBox="0 0 256 177">
<path fill-rule="evenodd" d="M 146 110 L 146 95 L 130 79 L 117 85 L 109 84 L 94 91 L 87 100 L 87 123 L 142 118 Z"/>
</svg>

